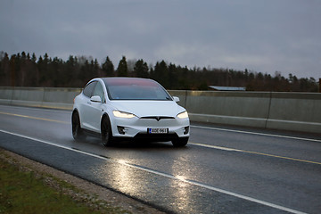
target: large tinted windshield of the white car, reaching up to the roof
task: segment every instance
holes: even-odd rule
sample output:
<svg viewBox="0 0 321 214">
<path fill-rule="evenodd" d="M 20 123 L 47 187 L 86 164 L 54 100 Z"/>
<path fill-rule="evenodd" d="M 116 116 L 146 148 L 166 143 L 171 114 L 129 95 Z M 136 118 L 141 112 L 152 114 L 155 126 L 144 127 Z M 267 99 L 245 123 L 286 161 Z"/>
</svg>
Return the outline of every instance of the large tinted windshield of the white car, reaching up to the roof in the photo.
<svg viewBox="0 0 321 214">
<path fill-rule="evenodd" d="M 110 100 L 172 100 L 157 82 L 144 78 L 104 78 Z"/>
</svg>

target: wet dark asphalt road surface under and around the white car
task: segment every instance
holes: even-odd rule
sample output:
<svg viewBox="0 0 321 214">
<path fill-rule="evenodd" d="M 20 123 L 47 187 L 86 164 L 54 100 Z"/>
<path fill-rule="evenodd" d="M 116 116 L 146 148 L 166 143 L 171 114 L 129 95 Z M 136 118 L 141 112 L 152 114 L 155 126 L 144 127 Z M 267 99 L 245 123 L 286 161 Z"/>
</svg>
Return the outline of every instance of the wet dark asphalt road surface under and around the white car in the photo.
<svg viewBox="0 0 321 214">
<path fill-rule="evenodd" d="M 76 143 L 70 111 L 0 105 L 0 147 L 177 213 L 320 213 L 321 136 L 192 123 L 170 143 Z"/>
</svg>

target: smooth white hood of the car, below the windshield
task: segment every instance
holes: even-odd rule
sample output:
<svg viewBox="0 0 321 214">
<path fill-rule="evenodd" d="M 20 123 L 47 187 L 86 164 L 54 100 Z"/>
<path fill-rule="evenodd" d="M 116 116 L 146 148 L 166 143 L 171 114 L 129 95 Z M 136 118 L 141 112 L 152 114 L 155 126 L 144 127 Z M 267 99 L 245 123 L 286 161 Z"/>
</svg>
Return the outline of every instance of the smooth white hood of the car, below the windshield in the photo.
<svg viewBox="0 0 321 214">
<path fill-rule="evenodd" d="M 178 113 L 185 111 L 174 101 L 112 101 L 112 105 L 118 111 L 133 113 L 139 118 L 152 116 L 175 118 Z"/>
</svg>

